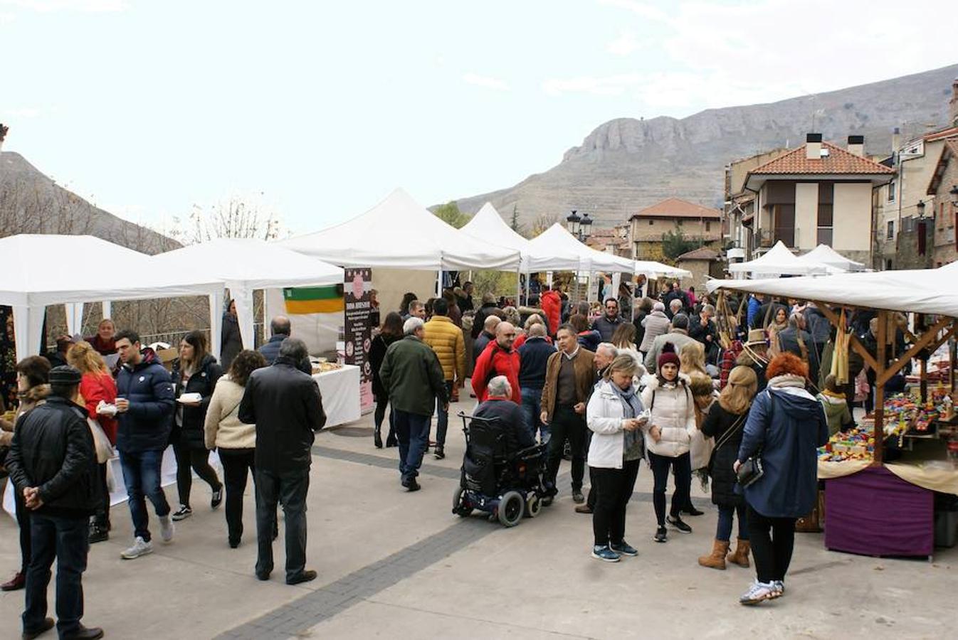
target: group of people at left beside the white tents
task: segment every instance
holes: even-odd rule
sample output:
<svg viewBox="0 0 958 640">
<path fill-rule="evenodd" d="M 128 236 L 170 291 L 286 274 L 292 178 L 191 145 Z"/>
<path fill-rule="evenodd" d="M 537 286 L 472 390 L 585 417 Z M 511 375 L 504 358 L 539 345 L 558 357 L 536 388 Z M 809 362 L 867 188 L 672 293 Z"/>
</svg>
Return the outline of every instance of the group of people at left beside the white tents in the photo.
<svg viewBox="0 0 958 640">
<path fill-rule="evenodd" d="M 232 306 L 232 305 L 231 305 Z M 227 312 L 235 313 L 232 311 Z M 147 500 L 160 540 L 193 514 L 193 474 L 210 487 L 210 508 L 225 497 L 226 542 L 242 540 L 242 502 L 252 475 L 256 497 L 256 577 L 273 570 L 277 508 L 285 514 L 285 582 L 315 579 L 306 567 L 306 501 L 314 433 L 325 424 L 306 344 L 290 337 L 285 317 L 258 351 L 234 349 L 218 364 L 206 334 L 191 331 L 168 369 L 133 330 L 103 320 L 88 339 L 63 337 L 57 349 L 15 364 L 18 404 L 0 419 L 3 467 L 13 484 L 21 565 L 0 585 L 25 589 L 23 637 L 57 628 L 60 638 L 99 638 L 82 625 L 82 573 L 89 545 L 109 540 L 110 460 L 119 456 L 133 541 L 124 560 L 153 551 Z M 224 324 L 223 346 L 233 328 Z M 115 361 L 111 369 L 108 361 Z M 176 465 L 178 505 L 162 487 L 168 447 Z M 217 451 L 223 479 L 210 463 Z M 113 515 L 115 519 L 115 514 Z M 47 616 L 47 588 L 57 562 L 57 620 Z"/>
</svg>

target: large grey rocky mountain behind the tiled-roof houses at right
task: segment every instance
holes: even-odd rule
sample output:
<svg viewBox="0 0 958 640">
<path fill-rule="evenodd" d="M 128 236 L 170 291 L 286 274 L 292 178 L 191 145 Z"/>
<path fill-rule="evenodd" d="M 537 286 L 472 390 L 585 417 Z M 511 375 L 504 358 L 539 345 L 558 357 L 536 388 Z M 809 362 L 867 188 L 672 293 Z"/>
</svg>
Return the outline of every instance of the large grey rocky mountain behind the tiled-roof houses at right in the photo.
<svg viewBox="0 0 958 640">
<path fill-rule="evenodd" d="M 671 196 L 720 207 L 725 165 L 796 146 L 812 130 L 842 146 L 848 135 L 864 135 L 866 152 L 881 154 L 891 150 L 894 127 L 901 127 L 904 142 L 944 124 L 956 76 L 958 64 L 816 96 L 707 109 L 681 120 L 607 121 L 548 171 L 457 202 L 472 214 L 489 201 L 507 221 L 517 207 L 526 225 L 575 209 L 601 227 Z"/>
</svg>

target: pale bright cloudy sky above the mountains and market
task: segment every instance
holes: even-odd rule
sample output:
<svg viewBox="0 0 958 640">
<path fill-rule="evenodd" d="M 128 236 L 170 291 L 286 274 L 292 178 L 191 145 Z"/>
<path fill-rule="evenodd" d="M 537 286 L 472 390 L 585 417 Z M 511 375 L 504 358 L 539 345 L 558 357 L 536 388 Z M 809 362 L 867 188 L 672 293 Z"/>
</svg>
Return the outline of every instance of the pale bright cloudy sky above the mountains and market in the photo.
<svg viewBox="0 0 958 640">
<path fill-rule="evenodd" d="M 0 0 L 0 122 L 5 151 L 134 222 L 241 198 L 312 232 L 397 187 L 510 187 L 613 118 L 953 64 L 936 15 L 951 2 Z"/>
</svg>

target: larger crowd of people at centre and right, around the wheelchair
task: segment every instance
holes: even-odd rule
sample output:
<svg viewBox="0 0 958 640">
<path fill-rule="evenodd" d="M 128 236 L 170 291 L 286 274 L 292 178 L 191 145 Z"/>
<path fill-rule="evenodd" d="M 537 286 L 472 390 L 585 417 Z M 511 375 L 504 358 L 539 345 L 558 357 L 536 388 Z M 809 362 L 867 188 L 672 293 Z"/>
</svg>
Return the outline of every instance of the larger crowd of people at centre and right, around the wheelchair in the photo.
<svg viewBox="0 0 958 640">
<path fill-rule="evenodd" d="M 738 300 L 725 300 L 733 311 L 719 330 L 715 301 L 677 282 L 658 299 L 633 298 L 624 285 L 600 307 L 570 303 L 559 284 L 518 308 L 486 295 L 473 310 L 471 295 L 451 293 L 460 309 L 468 304 L 461 321 L 449 319 L 445 296 L 420 305 L 409 294 L 407 313 L 390 314 L 376 338 L 376 446 L 388 401 L 403 487 L 420 489 L 430 446 L 445 456 L 451 392 L 469 378 L 475 415 L 508 423 L 508 433 L 521 434 L 513 446 L 545 445 L 544 504 L 559 493 L 561 460 L 571 460 L 575 511 L 593 518 L 592 557 L 636 555 L 625 540 L 626 508 L 644 459 L 654 541 L 668 541 L 670 529 L 693 532 L 683 519 L 703 513 L 691 498 L 693 479 L 708 478 L 719 519 L 712 551 L 698 563 L 749 567 L 754 558 L 757 580 L 741 603 L 784 594 L 791 532 L 817 495 L 816 449 L 830 430 L 850 426 L 855 401 L 822 375 L 834 332 L 820 310 L 749 298 L 740 314 Z M 755 457 L 764 474 L 746 483 L 739 469 Z"/>
</svg>

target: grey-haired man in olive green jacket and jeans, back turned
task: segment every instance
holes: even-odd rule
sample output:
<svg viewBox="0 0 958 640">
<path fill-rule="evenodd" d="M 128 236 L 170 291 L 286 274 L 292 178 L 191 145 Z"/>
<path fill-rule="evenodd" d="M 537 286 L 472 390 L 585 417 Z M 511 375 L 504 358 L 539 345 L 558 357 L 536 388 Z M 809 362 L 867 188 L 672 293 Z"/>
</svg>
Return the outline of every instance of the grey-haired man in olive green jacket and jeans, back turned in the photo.
<svg viewBox="0 0 958 640">
<path fill-rule="evenodd" d="M 428 446 L 432 412 L 437 399 L 447 411 L 449 395 L 439 358 L 422 342 L 422 319 L 406 320 L 402 332 L 405 338 L 393 342 L 386 350 L 379 367 L 379 379 L 389 391 L 389 403 L 394 411 L 400 481 L 409 491 L 419 491 L 416 476 Z"/>
</svg>

